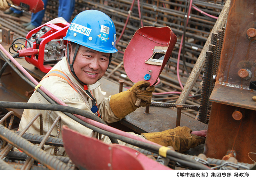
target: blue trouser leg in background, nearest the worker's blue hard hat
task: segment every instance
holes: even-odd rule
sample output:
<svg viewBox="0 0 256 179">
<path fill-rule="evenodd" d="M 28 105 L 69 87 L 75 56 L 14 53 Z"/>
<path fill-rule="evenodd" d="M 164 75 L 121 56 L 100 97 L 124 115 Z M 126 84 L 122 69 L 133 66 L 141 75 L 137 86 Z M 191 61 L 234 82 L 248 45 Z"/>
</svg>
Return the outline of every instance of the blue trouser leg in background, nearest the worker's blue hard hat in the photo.
<svg viewBox="0 0 256 179">
<path fill-rule="evenodd" d="M 74 9 L 75 0 L 59 0 L 58 17 L 62 17 L 69 22 Z"/>
</svg>

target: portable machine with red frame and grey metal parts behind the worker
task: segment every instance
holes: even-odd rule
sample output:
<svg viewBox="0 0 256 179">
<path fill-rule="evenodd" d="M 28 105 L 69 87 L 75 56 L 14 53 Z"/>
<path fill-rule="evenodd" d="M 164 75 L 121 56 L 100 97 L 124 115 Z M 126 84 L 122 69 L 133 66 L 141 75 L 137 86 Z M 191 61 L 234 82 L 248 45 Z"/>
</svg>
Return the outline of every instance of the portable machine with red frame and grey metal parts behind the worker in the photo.
<svg viewBox="0 0 256 179">
<path fill-rule="evenodd" d="M 63 37 L 66 35 L 69 25 L 64 18 L 55 18 L 28 32 L 26 51 L 37 49 L 39 52 L 33 55 L 24 54 L 26 61 L 47 73 L 65 56 L 67 40 L 63 40 Z M 20 56 L 22 55 L 20 54 Z"/>
</svg>

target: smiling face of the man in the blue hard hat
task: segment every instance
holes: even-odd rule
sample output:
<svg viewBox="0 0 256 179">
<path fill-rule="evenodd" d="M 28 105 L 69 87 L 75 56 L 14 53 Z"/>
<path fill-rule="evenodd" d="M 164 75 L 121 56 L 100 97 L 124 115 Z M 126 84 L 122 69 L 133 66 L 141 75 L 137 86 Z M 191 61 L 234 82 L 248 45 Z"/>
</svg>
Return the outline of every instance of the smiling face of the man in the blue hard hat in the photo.
<svg viewBox="0 0 256 179">
<path fill-rule="evenodd" d="M 69 59 L 72 64 L 74 49 L 69 46 Z M 94 84 L 106 72 L 108 68 L 109 55 L 90 48 L 80 46 L 73 64 L 77 78 L 85 84 Z M 70 71 L 70 68 L 69 68 Z"/>
</svg>

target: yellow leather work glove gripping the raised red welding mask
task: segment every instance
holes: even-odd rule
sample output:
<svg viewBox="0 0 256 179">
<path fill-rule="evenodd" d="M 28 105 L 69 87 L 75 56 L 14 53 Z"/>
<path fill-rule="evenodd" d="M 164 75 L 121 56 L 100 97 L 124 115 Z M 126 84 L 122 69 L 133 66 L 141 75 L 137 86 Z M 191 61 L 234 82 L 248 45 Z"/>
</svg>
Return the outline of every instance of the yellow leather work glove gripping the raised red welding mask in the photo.
<svg viewBox="0 0 256 179">
<path fill-rule="evenodd" d="M 135 106 L 137 98 L 141 99 L 140 106 L 148 106 L 151 104 L 152 92 L 155 91 L 155 87 L 149 85 L 149 82 L 140 81 L 135 83 L 132 88 L 127 91 L 112 95 L 109 104 L 116 117 L 122 119 L 135 111 L 138 108 L 138 106 Z M 141 90 L 143 87 L 147 88 Z"/>
</svg>

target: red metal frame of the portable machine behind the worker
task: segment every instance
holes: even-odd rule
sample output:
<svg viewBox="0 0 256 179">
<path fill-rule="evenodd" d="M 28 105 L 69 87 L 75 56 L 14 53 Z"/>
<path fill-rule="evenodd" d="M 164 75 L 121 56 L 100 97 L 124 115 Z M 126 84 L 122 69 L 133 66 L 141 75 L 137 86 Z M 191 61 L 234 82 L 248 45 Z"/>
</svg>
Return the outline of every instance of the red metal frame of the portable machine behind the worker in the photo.
<svg viewBox="0 0 256 179">
<path fill-rule="evenodd" d="M 54 19 L 53 19 L 54 20 Z M 39 68 L 42 72 L 47 73 L 52 68 L 52 66 L 48 64 L 44 64 L 44 50 L 45 45 L 53 39 L 62 39 L 68 30 L 70 23 L 64 21 L 58 21 L 58 23 L 51 23 L 54 21 L 50 21 L 44 25 L 33 29 L 28 32 L 26 39 L 28 39 L 32 45 L 33 49 L 39 49 L 38 57 L 37 55 L 26 56 L 25 59 L 28 63 L 34 65 L 36 68 Z M 55 20 L 56 22 L 56 20 Z M 41 29 L 45 28 L 46 30 L 43 32 Z M 33 35 L 36 34 L 36 38 L 33 38 Z M 40 44 L 36 44 L 36 39 L 41 39 Z M 64 42 L 67 44 L 67 41 Z M 26 46 L 29 47 L 28 42 L 26 42 Z"/>
</svg>

